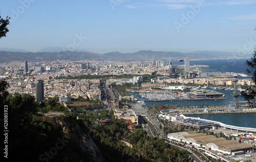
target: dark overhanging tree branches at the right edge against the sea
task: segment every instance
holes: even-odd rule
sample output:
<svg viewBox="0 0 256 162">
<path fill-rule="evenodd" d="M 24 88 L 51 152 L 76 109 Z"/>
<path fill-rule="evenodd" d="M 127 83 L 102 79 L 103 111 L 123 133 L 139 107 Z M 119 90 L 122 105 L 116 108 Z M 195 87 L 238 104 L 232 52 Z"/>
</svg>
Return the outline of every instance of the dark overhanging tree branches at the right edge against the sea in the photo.
<svg viewBox="0 0 256 162">
<path fill-rule="evenodd" d="M 248 66 L 247 72 L 252 74 L 252 80 L 254 84 L 256 84 L 256 50 L 254 50 L 253 57 L 251 60 L 247 60 L 246 64 Z M 256 87 L 248 87 L 246 88 L 246 91 L 243 91 L 241 95 L 249 102 L 253 100 L 251 103 L 253 106 L 256 104 Z"/>
</svg>

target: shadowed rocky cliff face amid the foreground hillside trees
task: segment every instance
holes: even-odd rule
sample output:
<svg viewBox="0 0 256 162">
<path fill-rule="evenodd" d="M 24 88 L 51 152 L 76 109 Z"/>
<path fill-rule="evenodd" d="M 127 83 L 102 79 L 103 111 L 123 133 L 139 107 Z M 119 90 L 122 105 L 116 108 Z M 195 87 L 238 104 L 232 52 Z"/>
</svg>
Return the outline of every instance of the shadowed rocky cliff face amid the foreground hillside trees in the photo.
<svg viewBox="0 0 256 162">
<path fill-rule="evenodd" d="M 49 121 L 54 127 L 60 127 L 64 134 L 80 145 L 83 157 L 81 161 L 105 161 L 81 120 L 72 117 L 55 117 L 49 118 Z M 87 158 L 88 156 L 90 158 Z"/>
</svg>

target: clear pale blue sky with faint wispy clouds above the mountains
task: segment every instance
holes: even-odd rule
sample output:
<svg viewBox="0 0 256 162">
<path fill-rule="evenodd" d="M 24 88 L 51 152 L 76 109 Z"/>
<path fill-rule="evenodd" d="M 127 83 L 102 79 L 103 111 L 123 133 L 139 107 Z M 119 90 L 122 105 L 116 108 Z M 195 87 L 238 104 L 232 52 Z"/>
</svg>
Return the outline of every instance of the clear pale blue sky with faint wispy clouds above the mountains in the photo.
<svg viewBox="0 0 256 162">
<path fill-rule="evenodd" d="M 1 1 L 0 48 L 252 53 L 256 0 Z"/>
</svg>

